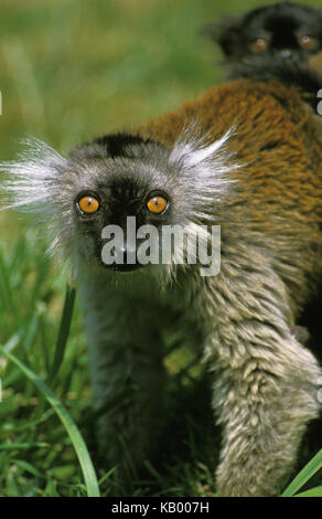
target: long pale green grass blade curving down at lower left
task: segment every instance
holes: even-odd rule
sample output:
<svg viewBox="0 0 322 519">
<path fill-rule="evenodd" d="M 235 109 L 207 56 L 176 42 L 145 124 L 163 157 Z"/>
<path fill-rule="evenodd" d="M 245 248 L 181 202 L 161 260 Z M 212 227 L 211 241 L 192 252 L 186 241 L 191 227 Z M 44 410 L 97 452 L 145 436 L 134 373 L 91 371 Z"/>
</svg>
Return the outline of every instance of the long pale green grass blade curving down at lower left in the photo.
<svg viewBox="0 0 322 519">
<path fill-rule="evenodd" d="M 37 388 L 37 390 L 44 395 L 47 402 L 53 406 L 57 415 L 60 416 L 66 432 L 69 435 L 71 442 L 74 446 L 75 453 L 78 457 L 79 465 L 83 472 L 87 496 L 99 497 L 99 488 L 95 474 L 95 469 L 87 451 L 86 444 L 80 435 L 75 422 L 72 416 L 64 407 L 62 402 L 55 396 L 52 390 L 40 379 L 32 370 L 24 366 L 15 356 L 0 346 L 0 351 L 7 356 L 18 368 L 29 378 L 29 380 Z"/>
</svg>

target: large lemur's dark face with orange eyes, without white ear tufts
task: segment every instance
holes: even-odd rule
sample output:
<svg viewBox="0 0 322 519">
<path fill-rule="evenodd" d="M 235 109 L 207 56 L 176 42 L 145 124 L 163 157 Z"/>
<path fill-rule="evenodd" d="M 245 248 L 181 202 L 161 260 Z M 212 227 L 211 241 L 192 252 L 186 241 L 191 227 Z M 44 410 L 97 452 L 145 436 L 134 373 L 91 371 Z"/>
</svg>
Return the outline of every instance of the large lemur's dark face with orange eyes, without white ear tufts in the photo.
<svg viewBox="0 0 322 519">
<path fill-rule="evenodd" d="M 183 191 L 167 160 L 168 150 L 129 136 L 119 136 L 117 146 L 111 149 L 106 139 L 74 153 L 71 167 L 77 169 L 78 179 L 72 219 L 85 257 L 95 257 L 105 268 L 129 272 L 148 264 L 142 253 L 148 258 L 152 244 L 159 261 L 162 227 L 184 225 L 180 210 L 184 198 L 180 208 Z"/>
</svg>

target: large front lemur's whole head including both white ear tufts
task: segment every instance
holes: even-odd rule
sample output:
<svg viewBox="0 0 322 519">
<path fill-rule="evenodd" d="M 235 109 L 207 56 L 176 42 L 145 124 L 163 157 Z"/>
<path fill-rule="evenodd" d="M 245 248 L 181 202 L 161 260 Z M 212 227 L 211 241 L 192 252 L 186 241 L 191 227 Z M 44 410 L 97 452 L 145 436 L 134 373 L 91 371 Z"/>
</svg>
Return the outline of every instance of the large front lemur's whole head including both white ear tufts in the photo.
<svg viewBox="0 0 322 519">
<path fill-rule="evenodd" d="M 172 149 L 135 134 L 107 135 L 67 158 L 32 141 L 21 161 L 1 167 L 10 173 L 10 206 L 36 213 L 52 252 L 76 275 L 141 273 L 147 265 L 160 275 L 174 265 L 205 265 L 201 248 L 218 224 L 235 166 L 229 133 L 205 144 L 193 131 Z"/>
</svg>

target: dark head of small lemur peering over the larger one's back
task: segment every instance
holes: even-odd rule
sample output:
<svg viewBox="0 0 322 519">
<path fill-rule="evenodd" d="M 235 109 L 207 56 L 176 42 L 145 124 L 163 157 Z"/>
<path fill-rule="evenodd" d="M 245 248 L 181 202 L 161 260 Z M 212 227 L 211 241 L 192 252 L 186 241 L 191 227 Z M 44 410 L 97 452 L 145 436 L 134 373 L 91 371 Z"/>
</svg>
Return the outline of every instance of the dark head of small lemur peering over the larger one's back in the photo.
<svg viewBox="0 0 322 519">
<path fill-rule="evenodd" d="M 308 62 L 322 51 L 322 11 L 292 2 L 255 9 L 205 28 L 230 67 L 253 56 Z"/>
</svg>

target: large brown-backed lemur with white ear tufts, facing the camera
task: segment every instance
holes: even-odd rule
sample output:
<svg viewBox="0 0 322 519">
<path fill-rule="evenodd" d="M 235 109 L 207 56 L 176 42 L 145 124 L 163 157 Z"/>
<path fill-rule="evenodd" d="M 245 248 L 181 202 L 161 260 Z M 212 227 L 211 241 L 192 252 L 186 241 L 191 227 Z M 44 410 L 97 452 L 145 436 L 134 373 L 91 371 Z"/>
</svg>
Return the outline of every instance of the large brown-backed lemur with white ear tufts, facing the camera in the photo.
<svg viewBox="0 0 322 519">
<path fill-rule="evenodd" d="M 287 65 L 278 78 L 257 75 L 67 157 L 34 141 L 1 165 L 7 208 L 33 212 L 52 254 L 72 266 L 95 405 L 130 388 L 97 431 L 107 468 L 118 464 L 120 477 L 125 445 L 138 467 L 155 448 L 163 347 L 174 329 L 203 351 L 213 377 L 221 496 L 277 495 L 319 415 L 321 369 L 292 330 L 322 279 L 322 146 Z M 192 241 L 206 229 L 206 244 L 219 225 L 219 272 L 202 275 L 200 250 L 195 263 L 182 261 L 186 242 L 168 264 L 143 266 L 139 234 L 107 264 L 104 229 L 126 232 L 129 216 L 158 233 L 176 225 Z"/>
</svg>

